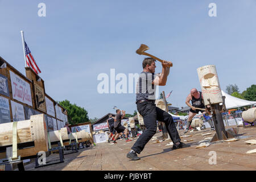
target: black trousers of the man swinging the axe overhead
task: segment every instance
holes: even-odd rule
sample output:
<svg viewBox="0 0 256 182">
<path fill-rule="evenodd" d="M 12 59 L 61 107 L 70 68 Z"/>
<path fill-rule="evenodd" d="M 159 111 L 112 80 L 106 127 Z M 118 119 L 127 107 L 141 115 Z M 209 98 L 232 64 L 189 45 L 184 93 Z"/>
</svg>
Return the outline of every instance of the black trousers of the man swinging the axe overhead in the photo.
<svg viewBox="0 0 256 182">
<path fill-rule="evenodd" d="M 138 103 L 137 109 L 143 117 L 146 130 L 144 130 L 141 137 L 139 137 L 138 140 L 134 143 L 133 147 L 131 147 L 132 150 L 138 154 L 141 153 L 147 142 L 156 133 L 156 120 L 162 121 L 166 124 L 166 129 L 174 144 L 180 142 L 179 133 L 177 132 L 174 120 L 170 114 L 156 107 L 152 102 Z"/>
</svg>

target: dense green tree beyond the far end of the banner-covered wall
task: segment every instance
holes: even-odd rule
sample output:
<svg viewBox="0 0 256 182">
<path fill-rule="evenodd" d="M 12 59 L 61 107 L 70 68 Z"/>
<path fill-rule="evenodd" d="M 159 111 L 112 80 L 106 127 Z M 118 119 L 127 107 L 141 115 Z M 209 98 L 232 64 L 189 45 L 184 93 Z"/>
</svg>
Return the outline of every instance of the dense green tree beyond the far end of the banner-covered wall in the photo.
<svg viewBox="0 0 256 182">
<path fill-rule="evenodd" d="M 68 111 L 68 122 L 71 125 L 78 123 L 88 122 L 88 112 L 84 107 L 77 106 L 76 104 L 71 104 L 68 100 L 58 102 L 59 105 L 63 106 L 65 110 Z"/>
</svg>

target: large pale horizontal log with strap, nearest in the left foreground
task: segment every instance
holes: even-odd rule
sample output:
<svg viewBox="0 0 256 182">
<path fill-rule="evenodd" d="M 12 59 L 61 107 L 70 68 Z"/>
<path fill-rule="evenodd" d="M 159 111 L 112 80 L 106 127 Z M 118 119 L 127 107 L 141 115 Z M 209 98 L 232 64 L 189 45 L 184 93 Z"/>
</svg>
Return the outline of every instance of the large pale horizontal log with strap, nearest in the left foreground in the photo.
<svg viewBox="0 0 256 182">
<path fill-rule="evenodd" d="M 22 143 L 23 147 L 19 147 Z M 0 124 L 0 147 L 13 144 L 13 122 Z M 48 151 L 48 137 L 44 114 L 31 115 L 29 120 L 17 123 L 18 156 L 21 158 L 34 156 L 39 151 Z M 0 159 L 5 158 L 6 152 L 0 153 Z"/>
</svg>

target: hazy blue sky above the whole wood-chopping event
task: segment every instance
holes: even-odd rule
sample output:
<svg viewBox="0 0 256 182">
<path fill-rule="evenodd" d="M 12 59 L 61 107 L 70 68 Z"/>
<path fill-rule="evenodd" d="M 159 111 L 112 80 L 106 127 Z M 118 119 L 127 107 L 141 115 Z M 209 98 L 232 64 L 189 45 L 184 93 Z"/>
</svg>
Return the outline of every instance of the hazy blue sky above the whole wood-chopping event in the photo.
<svg viewBox="0 0 256 182">
<path fill-rule="evenodd" d="M 46 17 L 38 4 L 46 4 Z M 210 17 L 209 3 L 217 16 Z M 25 75 L 20 31 L 42 73 L 46 93 L 84 107 L 89 118 L 133 114 L 135 94 L 99 94 L 100 73 L 140 73 L 148 53 L 171 60 L 166 86 L 172 106 L 185 106 L 191 88 L 200 90 L 196 69 L 214 64 L 221 89 L 240 91 L 256 78 L 256 1 L 7 1 L 0 0 L 0 56 Z M 161 71 L 156 63 L 156 72 Z"/>
</svg>

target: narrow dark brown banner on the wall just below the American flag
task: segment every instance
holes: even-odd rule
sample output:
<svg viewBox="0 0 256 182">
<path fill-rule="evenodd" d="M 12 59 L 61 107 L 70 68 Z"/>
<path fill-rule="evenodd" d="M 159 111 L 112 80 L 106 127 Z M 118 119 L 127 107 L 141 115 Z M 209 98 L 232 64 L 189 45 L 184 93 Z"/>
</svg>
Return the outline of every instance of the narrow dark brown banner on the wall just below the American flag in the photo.
<svg viewBox="0 0 256 182">
<path fill-rule="evenodd" d="M 36 108 L 46 113 L 46 100 L 44 98 L 44 89 L 38 84 L 34 83 Z"/>
</svg>

